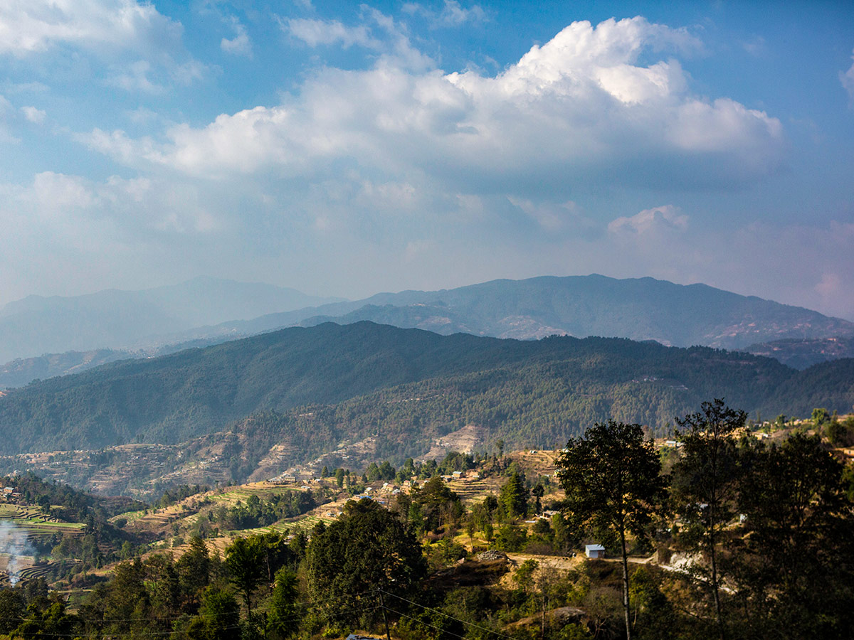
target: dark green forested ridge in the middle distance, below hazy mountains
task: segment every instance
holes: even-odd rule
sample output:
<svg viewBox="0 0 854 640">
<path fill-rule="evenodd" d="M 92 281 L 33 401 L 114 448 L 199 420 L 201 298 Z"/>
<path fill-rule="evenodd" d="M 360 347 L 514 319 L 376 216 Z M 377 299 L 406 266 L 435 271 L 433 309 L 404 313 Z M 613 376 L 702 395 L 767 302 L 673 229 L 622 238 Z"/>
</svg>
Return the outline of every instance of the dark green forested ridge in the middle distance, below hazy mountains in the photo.
<svg viewBox="0 0 854 640">
<path fill-rule="evenodd" d="M 9 392 L 0 399 L 0 452 L 176 444 L 271 410 L 281 414 L 271 437 L 295 439 L 306 455 L 371 431 L 383 432 L 389 453 L 411 453 L 430 433 L 470 422 L 514 441 L 553 445 L 607 417 L 664 428 L 711 397 L 789 415 L 820 398 L 844 411 L 854 384 L 846 363 L 798 373 L 769 358 L 706 347 L 327 323 L 107 364 Z M 403 402 L 412 398 L 418 401 Z M 320 409 L 300 435 L 288 412 L 306 405 Z"/>
</svg>

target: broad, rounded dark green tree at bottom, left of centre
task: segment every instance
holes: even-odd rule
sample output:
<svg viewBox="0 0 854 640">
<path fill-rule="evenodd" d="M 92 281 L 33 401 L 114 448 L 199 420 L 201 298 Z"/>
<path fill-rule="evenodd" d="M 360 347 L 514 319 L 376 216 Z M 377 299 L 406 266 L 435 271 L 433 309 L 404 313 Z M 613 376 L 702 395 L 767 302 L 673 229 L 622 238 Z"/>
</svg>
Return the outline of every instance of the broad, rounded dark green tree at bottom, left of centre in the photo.
<svg viewBox="0 0 854 640">
<path fill-rule="evenodd" d="M 406 594 L 425 571 L 412 532 L 367 499 L 347 503 L 343 515 L 308 545 L 308 594 L 324 603 L 325 620 L 357 620 L 360 609 L 374 609 L 377 590 Z"/>
</svg>

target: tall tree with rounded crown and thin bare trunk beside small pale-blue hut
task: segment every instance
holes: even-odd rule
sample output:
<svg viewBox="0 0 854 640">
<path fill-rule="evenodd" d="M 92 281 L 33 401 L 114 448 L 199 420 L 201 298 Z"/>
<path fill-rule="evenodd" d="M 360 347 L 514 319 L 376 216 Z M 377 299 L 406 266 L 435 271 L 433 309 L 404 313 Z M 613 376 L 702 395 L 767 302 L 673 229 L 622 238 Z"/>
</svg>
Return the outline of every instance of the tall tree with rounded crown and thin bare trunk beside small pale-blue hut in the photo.
<svg viewBox="0 0 854 640">
<path fill-rule="evenodd" d="M 646 535 L 664 499 L 661 461 L 639 424 L 596 423 L 581 439 L 570 439 L 557 461 L 566 509 L 579 523 L 611 530 L 623 557 L 623 613 L 631 640 L 629 562 L 626 533 Z"/>
</svg>

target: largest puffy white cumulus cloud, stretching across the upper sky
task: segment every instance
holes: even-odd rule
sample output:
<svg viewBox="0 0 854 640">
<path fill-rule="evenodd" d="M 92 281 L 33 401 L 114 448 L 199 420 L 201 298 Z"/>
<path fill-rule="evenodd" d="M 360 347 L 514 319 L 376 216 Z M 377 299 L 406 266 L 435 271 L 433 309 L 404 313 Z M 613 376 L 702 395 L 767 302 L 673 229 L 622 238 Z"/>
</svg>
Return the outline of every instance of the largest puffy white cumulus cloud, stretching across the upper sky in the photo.
<svg viewBox="0 0 854 640">
<path fill-rule="evenodd" d="M 396 28 L 381 14 L 371 19 Z M 337 23 L 288 24 L 308 44 L 374 46 L 367 32 Z M 321 69 L 278 106 L 178 125 L 157 142 L 94 131 L 89 143 L 128 164 L 200 177 L 311 174 L 347 158 L 472 193 L 560 196 L 605 175 L 726 188 L 768 175 L 784 150 L 778 119 L 727 97 L 693 95 L 672 57 L 638 63 L 642 54 L 697 46 L 687 32 L 640 17 L 575 22 L 495 76 L 416 71 L 402 55 L 383 55 L 367 70 Z"/>
</svg>

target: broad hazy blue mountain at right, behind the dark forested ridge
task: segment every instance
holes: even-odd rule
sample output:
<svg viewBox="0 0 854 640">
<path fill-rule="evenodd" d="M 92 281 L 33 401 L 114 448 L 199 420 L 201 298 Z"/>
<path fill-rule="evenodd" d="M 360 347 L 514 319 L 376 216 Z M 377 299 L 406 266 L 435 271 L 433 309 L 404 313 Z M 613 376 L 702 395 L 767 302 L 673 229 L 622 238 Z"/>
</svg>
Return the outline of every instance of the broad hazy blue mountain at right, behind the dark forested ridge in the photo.
<svg viewBox="0 0 854 640">
<path fill-rule="evenodd" d="M 705 284 L 596 274 L 377 294 L 366 300 L 225 323 L 221 329 L 250 333 L 330 320 L 371 320 L 444 335 L 465 332 L 523 340 L 555 334 L 597 335 L 725 349 L 770 340 L 854 335 L 854 323 L 847 320 Z"/>
</svg>

